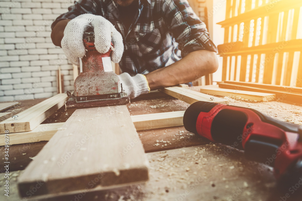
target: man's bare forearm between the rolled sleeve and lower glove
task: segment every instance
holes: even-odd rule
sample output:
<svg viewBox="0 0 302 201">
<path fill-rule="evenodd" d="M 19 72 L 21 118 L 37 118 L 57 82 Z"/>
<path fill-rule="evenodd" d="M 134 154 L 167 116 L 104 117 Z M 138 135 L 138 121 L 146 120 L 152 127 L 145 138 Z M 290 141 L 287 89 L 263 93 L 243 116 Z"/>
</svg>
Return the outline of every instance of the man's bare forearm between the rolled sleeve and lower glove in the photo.
<svg viewBox="0 0 302 201">
<path fill-rule="evenodd" d="M 167 67 L 146 74 L 151 90 L 192 82 L 199 77 L 214 73 L 218 68 L 215 52 L 198 50 Z"/>
</svg>

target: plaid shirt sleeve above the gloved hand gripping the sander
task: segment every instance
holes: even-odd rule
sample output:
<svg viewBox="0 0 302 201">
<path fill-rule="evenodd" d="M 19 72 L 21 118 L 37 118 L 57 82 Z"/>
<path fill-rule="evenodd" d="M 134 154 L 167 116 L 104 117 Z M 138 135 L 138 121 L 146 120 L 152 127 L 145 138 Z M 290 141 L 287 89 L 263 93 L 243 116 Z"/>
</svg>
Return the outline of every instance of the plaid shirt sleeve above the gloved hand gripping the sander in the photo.
<svg viewBox="0 0 302 201">
<path fill-rule="evenodd" d="M 100 15 L 101 13 L 97 12 L 102 10 L 100 1 L 95 0 L 79 0 L 78 2 L 74 1 L 74 5 L 68 7 L 68 12 L 61 14 L 56 20 L 51 24 L 51 29 L 61 20 L 73 19 L 81 14 L 95 14 Z M 99 9 L 100 8 L 100 9 Z"/>
</svg>

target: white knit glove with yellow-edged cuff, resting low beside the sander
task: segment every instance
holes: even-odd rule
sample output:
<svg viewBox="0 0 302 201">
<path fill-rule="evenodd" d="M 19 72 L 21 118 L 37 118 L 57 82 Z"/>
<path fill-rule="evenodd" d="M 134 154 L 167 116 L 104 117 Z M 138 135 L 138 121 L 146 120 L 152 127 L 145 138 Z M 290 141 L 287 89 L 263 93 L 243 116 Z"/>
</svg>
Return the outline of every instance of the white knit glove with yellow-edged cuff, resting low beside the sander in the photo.
<svg viewBox="0 0 302 201">
<path fill-rule="evenodd" d="M 123 90 L 127 92 L 130 99 L 150 92 L 147 78 L 143 74 L 136 74 L 131 77 L 128 73 L 122 73 L 118 77 L 123 85 Z"/>
</svg>

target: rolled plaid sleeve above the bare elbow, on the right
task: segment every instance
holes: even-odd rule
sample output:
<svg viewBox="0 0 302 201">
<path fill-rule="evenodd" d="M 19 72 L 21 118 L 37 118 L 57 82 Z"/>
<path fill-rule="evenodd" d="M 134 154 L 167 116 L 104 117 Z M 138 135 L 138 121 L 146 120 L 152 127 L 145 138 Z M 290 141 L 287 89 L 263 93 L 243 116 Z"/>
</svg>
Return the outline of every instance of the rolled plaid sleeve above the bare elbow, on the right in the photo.
<svg viewBox="0 0 302 201">
<path fill-rule="evenodd" d="M 182 57 L 206 49 L 217 52 L 206 25 L 194 13 L 187 0 L 163 0 L 162 12 L 166 26 L 178 42 Z"/>
</svg>

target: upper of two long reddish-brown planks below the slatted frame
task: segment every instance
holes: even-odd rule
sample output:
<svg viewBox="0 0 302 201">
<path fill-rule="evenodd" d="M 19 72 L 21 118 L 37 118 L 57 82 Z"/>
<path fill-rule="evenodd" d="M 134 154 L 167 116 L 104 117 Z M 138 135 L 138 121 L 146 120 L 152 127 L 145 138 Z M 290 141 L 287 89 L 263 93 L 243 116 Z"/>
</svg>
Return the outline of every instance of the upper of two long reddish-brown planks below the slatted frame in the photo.
<svg viewBox="0 0 302 201">
<path fill-rule="evenodd" d="M 271 85 L 271 84 L 260 84 L 260 83 L 251 83 L 251 82 L 233 82 L 233 81 L 224 81 L 224 83 L 228 84 L 237 84 L 243 86 L 252 86 L 264 89 L 271 89 L 271 90 L 278 90 L 278 91 L 286 91 L 291 93 L 301 93 L 301 87 L 290 87 L 290 86 L 278 86 L 278 85 Z"/>
</svg>

